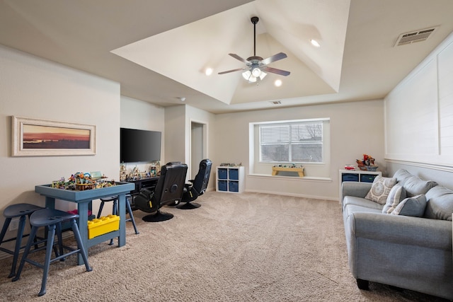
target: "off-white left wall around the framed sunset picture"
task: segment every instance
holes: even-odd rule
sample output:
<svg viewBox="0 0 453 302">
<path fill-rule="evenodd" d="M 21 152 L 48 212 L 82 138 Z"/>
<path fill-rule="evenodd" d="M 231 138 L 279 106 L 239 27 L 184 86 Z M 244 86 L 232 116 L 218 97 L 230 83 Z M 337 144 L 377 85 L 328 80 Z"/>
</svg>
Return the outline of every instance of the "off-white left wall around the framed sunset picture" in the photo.
<svg viewBox="0 0 453 302">
<path fill-rule="evenodd" d="M 118 83 L 2 46 L 0 74 L 0 212 L 20 202 L 44 205 L 44 198 L 35 194 L 35 185 L 68 178 L 78 171 L 100 170 L 117 178 Z M 13 115 L 96 125 L 96 155 L 11 157 Z M 58 204 L 64 210 L 76 208 L 69 202 Z"/>
</svg>

